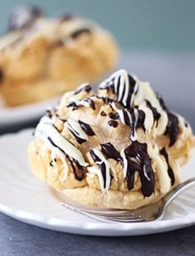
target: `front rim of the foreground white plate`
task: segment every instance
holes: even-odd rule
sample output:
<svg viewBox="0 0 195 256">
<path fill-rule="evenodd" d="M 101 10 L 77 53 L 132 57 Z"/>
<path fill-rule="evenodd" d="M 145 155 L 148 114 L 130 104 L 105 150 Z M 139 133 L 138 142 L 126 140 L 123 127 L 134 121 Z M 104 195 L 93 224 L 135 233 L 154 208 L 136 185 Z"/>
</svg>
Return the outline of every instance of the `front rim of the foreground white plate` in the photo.
<svg viewBox="0 0 195 256">
<path fill-rule="evenodd" d="M 95 221 L 87 223 L 80 222 L 79 220 L 67 220 L 48 217 L 40 214 L 29 213 L 27 211 L 11 208 L 3 203 L 0 203 L 0 212 L 6 214 L 11 218 L 15 218 L 23 223 L 32 224 L 37 227 L 46 228 L 50 230 L 65 232 L 65 233 L 79 233 L 78 234 L 87 234 L 87 235 L 98 235 L 98 236 L 138 236 L 150 233 L 164 233 L 168 231 L 177 230 L 180 228 L 185 228 L 193 226 L 195 224 L 195 214 L 188 216 L 188 218 L 175 218 L 175 219 L 166 219 L 166 220 L 154 220 L 151 222 L 146 222 L 143 225 L 140 223 L 107 223 Z M 79 213 L 77 213 L 79 214 Z M 192 217 L 193 216 L 193 217 Z M 90 218 L 89 218 L 90 220 Z M 179 224 L 178 224 L 179 221 Z M 101 223 L 101 225 L 100 225 Z M 158 223 L 158 224 L 157 224 Z M 166 226 L 164 224 L 166 223 Z M 169 223 L 171 223 L 169 225 Z M 143 224 L 143 223 L 142 223 Z M 160 226 L 160 227 L 159 227 Z M 122 228 L 121 228 L 122 227 Z M 160 228 L 160 229 L 159 229 Z M 134 230 L 138 233 L 130 233 Z M 144 233 L 139 233 L 141 230 L 145 230 Z M 110 231 L 115 231 L 117 233 L 110 233 Z M 151 233 L 151 234 L 152 234 Z"/>
</svg>

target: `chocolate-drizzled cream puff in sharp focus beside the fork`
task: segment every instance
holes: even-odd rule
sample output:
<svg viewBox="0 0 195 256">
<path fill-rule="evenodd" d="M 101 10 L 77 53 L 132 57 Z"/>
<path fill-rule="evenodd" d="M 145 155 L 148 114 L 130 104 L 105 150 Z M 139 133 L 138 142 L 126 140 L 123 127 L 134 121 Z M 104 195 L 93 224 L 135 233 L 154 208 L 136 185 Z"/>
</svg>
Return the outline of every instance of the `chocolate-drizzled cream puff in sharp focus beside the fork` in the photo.
<svg viewBox="0 0 195 256">
<path fill-rule="evenodd" d="M 33 172 L 90 206 L 134 209 L 178 185 L 194 145 L 189 123 L 149 83 L 119 70 L 65 93 L 28 147 Z"/>
</svg>

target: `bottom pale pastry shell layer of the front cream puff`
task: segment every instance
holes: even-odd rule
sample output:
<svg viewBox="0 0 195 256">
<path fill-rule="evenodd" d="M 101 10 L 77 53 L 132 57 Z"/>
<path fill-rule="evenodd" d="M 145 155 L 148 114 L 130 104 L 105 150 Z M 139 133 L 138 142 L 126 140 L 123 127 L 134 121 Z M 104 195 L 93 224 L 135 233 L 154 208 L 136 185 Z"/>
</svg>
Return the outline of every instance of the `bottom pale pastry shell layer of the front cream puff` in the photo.
<svg viewBox="0 0 195 256">
<path fill-rule="evenodd" d="M 63 190 L 56 189 L 56 196 L 61 198 L 62 202 L 63 195 L 78 203 L 85 204 L 86 206 L 113 209 L 140 208 L 144 205 L 155 203 L 163 196 L 158 190 L 156 190 L 150 197 L 144 198 L 144 195 L 139 191 L 122 192 L 109 190 L 104 193 L 99 189 L 90 188 L 89 186 Z"/>
</svg>

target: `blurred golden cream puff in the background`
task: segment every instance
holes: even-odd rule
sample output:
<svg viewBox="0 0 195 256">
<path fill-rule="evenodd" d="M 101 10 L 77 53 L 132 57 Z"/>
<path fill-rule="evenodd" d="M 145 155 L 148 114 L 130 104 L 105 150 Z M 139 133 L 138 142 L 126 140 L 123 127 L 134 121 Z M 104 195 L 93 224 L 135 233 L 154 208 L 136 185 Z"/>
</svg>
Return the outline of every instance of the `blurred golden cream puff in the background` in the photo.
<svg viewBox="0 0 195 256">
<path fill-rule="evenodd" d="M 117 58 L 115 39 L 98 24 L 17 8 L 0 38 L 0 96 L 8 106 L 52 98 L 85 81 L 95 83 Z"/>
</svg>

